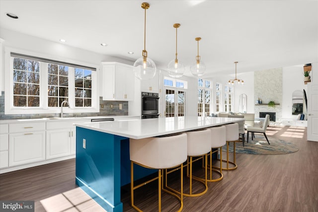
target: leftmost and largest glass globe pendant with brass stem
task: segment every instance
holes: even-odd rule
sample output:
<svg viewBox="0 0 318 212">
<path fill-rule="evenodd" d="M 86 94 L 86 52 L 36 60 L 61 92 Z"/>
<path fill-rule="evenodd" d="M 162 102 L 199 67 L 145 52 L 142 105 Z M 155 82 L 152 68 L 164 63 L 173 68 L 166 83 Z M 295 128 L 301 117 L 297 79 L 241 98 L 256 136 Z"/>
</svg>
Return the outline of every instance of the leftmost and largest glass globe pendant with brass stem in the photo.
<svg viewBox="0 0 318 212">
<path fill-rule="evenodd" d="M 144 27 L 144 50 L 143 57 L 136 60 L 134 63 L 134 73 L 139 79 L 151 79 L 156 75 L 156 64 L 147 57 L 146 51 L 146 10 L 150 7 L 149 3 L 143 2 L 141 7 L 145 9 L 145 27 Z"/>
</svg>

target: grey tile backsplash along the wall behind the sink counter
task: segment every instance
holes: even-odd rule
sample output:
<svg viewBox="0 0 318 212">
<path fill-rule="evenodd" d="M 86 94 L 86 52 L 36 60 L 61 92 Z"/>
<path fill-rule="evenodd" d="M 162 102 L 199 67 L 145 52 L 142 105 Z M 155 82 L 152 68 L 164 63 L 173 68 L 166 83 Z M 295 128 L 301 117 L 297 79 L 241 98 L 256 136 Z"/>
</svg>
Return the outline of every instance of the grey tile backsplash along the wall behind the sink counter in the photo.
<svg viewBox="0 0 318 212">
<path fill-rule="evenodd" d="M 119 105 L 122 105 L 121 110 Z M 99 97 L 99 113 L 65 113 L 64 117 L 85 117 L 85 116 L 123 116 L 128 115 L 128 102 L 127 101 L 103 101 Z M 47 114 L 4 114 L 4 91 L 0 96 L 0 119 L 36 119 L 45 117 L 59 117 L 60 113 L 47 113 Z"/>
</svg>

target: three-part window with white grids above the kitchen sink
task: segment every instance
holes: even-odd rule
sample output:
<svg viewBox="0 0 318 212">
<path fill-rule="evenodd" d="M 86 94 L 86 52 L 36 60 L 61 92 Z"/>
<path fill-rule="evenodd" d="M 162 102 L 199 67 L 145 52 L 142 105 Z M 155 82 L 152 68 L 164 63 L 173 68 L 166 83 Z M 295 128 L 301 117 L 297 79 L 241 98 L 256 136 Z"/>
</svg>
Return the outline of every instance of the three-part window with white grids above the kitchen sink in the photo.
<svg viewBox="0 0 318 212">
<path fill-rule="evenodd" d="M 64 100 L 70 103 L 68 113 L 99 111 L 96 68 L 10 50 L 5 59 L 10 62 L 5 69 L 11 70 L 5 82 L 5 114 L 60 113 Z"/>
</svg>

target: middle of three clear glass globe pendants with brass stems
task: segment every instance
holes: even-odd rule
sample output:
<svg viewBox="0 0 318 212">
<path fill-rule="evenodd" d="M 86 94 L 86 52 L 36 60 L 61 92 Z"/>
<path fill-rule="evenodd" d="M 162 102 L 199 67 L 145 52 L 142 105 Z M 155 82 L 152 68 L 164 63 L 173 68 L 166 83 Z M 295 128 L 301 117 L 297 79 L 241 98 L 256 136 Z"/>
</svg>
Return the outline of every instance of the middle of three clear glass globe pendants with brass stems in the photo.
<svg viewBox="0 0 318 212">
<path fill-rule="evenodd" d="M 185 65 L 178 61 L 178 53 L 177 53 L 177 29 L 180 27 L 179 23 L 173 24 L 175 28 L 175 59 L 170 61 L 167 66 L 168 74 L 171 77 L 178 78 L 181 77 L 185 71 Z"/>
</svg>

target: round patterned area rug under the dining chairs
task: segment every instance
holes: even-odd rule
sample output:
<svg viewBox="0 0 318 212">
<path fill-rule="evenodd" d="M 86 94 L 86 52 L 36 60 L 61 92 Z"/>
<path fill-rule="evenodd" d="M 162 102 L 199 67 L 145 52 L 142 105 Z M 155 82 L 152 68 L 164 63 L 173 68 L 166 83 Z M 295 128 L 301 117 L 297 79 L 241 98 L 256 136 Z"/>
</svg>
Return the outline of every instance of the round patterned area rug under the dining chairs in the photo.
<svg viewBox="0 0 318 212">
<path fill-rule="evenodd" d="M 267 137 L 270 145 L 266 139 L 261 136 L 256 136 L 252 140 L 245 141 L 244 146 L 242 142 L 236 142 L 236 153 L 241 154 L 289 154 L 298 151 L 298 147 L 288 141 L 282 141 L 275 138 Z M 226 151 L 227 146 L 222 147 L 222 151 Z M 233 142 L 230 142 L 229 151 L 233 152 Z"/>
</svg>

